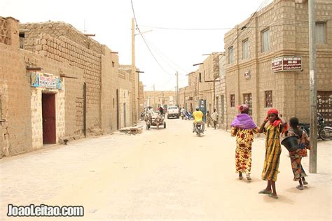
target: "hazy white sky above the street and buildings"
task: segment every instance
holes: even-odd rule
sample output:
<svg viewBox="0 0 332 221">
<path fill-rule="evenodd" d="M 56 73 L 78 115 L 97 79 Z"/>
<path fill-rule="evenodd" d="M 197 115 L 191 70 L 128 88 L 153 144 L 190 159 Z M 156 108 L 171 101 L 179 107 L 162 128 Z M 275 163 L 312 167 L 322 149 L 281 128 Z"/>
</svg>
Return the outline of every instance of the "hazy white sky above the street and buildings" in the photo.
<svg viewBox="0 0 332 221">
<path fill-rule="evenodd" d="M 135 37 L 136 66 L 144 71 L 140 75 L 146 85 L 144 90 L 153 90 L 153 84 L 155 90 L 174 90 L 177 71 L 179 86 L 186 86 L 186 74 L 198 69 L 193 64 L 203 62 L 206 57 L 203 54 L 223 51 L 223 35 L 270 2 L 272 0 L 132 0 L 132 3 L 130 0 L 1 0 L 0 16 L 15 17 L 22 23 L 67 22 L 82 32 L 96 34 L 92 38 L 119 52 L 120 64 L 130 64 L 133 5 L 139 29 L 148 31 L 143 34 L 146 43 L 140 35 Z"/>
</svg>

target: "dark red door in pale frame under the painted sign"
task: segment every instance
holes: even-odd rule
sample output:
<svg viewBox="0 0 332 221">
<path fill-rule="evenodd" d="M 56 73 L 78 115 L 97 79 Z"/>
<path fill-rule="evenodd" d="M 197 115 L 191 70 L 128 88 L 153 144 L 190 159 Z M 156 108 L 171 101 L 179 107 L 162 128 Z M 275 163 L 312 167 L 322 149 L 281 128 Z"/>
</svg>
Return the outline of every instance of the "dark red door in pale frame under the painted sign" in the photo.
<svg viewBox="0 0 332 221">
<path fill-rule="evenodd" d="M 57 143 L 55 127 L 55 94 L 42 94 L 43 144 Z"/>
</svg>

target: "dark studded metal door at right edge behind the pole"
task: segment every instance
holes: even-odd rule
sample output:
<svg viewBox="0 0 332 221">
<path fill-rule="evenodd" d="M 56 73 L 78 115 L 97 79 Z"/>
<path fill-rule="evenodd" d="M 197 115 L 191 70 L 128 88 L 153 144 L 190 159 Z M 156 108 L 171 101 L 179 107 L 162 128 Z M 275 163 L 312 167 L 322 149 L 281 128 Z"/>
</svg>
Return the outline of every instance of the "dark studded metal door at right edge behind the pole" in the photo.
<svg viewBox="0 0 332 221">
<path fill-rule="evenodd" d="M 332 127 L 332 91 L 317 92 L 317 111 L 324 117 L 326 126 Z"/>
</svg>

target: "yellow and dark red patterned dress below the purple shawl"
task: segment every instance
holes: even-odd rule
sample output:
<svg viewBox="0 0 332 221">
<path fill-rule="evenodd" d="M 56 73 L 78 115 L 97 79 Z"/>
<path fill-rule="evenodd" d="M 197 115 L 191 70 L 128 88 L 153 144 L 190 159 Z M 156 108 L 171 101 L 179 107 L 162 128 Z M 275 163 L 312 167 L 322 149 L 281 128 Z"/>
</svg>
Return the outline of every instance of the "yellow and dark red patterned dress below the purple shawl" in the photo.
<svg viewBox="0 0 332 221">
<path fill-rule="evenodd" d="M 254 134 L 257 134 L 258 127 L 254 129 L 240 129 L 232 127 L 230 134 L 236 136 L 235 149 L 235 171 L 236 173 L 247 173 L 251 171 L 251 143 L 254 141 Z"/>
</svg>

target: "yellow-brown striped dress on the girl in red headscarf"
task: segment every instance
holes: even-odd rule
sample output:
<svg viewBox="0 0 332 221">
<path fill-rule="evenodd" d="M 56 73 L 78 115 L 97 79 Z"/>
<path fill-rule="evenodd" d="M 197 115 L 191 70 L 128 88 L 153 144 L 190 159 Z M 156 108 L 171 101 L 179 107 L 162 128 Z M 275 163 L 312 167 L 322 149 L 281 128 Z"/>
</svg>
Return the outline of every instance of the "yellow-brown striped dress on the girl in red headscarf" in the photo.
<svg viewBox="0 0 332 221">
<path fill-rule="evenodd" d="M 278 127 L 273 124 L 268 124 L 263 129 L 265 134 L 265 159 L 264 168 L 262 172 L 263 180 L 277 181 L 277 175 L 279 173 L 279 161 L 280 154 L 282 153 L 282 147 L 280 145 L 280 133 L 282 132 L 281 123 Z"/>
</svg>

